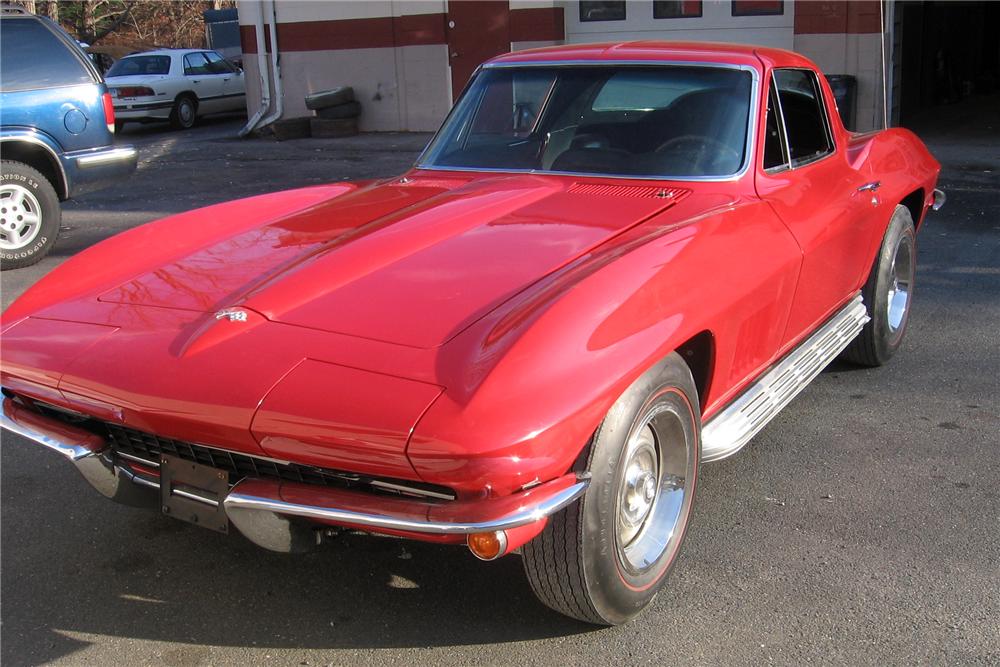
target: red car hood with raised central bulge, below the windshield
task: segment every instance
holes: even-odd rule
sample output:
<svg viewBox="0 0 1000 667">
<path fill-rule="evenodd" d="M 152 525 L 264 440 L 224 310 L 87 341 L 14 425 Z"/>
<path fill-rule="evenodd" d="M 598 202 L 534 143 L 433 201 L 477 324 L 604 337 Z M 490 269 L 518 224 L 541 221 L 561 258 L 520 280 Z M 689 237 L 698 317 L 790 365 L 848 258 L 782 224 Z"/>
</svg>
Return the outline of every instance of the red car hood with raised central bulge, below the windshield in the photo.
<svg viewBox="0 0 1000 667">
<path fill-rule="evenodd" d="M 669 206 L 673 194 L 532 175 L 414 176 L 192 247 L 99 299 L 243 308 L 273 322 L 430 348 Z"/>
</svg>

